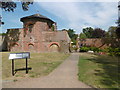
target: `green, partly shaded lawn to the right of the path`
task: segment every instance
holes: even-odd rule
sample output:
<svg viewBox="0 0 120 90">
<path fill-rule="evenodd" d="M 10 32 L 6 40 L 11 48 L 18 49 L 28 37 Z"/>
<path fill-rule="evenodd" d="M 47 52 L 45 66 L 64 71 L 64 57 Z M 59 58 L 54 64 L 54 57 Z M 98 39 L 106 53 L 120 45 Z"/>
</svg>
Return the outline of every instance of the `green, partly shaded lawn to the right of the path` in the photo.
<svg viewBox="0 0 120 90">
<path fill-rule="evenodd" d="M 78 63 L 79 80 L 95 88 L 118 88 L 120 85 L 118 60 L 120 61 L 120 58 L 81 53 Z"/>
</svg>

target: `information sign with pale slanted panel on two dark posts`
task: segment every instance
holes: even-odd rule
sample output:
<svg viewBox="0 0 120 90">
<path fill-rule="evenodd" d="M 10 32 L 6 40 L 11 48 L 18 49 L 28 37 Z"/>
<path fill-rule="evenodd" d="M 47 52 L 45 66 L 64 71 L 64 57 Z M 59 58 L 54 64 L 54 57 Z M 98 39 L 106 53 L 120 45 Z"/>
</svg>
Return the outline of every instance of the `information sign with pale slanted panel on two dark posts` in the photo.
<svg viewBox="0 0 120 90">
<path fill-rule="evenodd" d="M 26 74 L 28 73 L 28 58 L 30 58 L 30 52 L 22 53 L 10 53 L 9 59 L 12 60 L 12 75 L 14 76 L 14 60 L 15 59 L 26 59 Z"/>
</svg>

